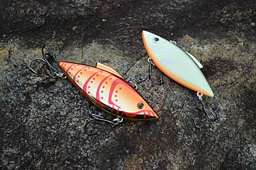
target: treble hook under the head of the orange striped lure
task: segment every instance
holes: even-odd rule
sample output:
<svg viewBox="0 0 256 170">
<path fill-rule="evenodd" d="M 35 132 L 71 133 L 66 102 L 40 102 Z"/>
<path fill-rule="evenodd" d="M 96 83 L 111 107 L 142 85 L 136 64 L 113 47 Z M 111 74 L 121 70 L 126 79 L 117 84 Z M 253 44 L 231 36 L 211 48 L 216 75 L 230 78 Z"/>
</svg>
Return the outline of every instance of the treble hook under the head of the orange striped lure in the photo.
<svg viewBox="0 0 256 170">
<path fill-rule="evenodd" d="M 88 127 L 89 123 L 92 122 L 92 121 L 104 121 L 106 123 L 110 123 L 112 125 L 118 125 L 119 123 L 121 123 L 123 121 L 123 118 L 115 118 L 113 120 L 106 120 L 104 119 L 102 116 L 99 116 L 97 114 L 93 114 L 91 111 L 90 111 L 90 107 L 92 105 L 90 105 L 88 107 L 88 111 L 89 111 L 89 115 L 90 117 L 92 118 L 91 120 L 87 121 L 84 125 L 84 132 L 87 134 L 87 135 L 94 135 L 95 133 L 89 133 L 87 130 L 86 130 L 86 127 Z"/>
</svg>

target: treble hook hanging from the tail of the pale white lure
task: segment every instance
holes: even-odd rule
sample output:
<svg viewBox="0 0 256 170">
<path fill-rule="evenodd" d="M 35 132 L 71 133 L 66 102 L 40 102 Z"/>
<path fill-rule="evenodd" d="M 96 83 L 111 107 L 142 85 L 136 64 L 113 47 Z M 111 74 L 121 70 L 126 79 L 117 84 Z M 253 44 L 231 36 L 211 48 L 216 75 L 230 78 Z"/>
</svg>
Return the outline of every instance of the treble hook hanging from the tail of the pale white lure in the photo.
<svg viewBox="0 0 256 170">
<path fill-rule="evenodd" d="M 193 120 L 195 123 L 195 127 L 202 128 L 206 125 L 206 123 L 208 123 L 208 120 L 211 120 L 211 121 L 218 120 L 218 118 L 220 118 L 220 114 L 218 114 L 218 112 L 216 112 L 212 107 L 211 107 L 211 112 L 208 112 L 207 109 L 205 108 L 204 102 L 202 100 L 203 94 L 198 92 L 196 95 L 198 96 L 198 99 L 199 99 L 200 109 L 202 109 L 202 111 L 205 114 L 206 121 L 203 125 L 196 125 L 195 118 L 193 118 Z"/>
</svg>

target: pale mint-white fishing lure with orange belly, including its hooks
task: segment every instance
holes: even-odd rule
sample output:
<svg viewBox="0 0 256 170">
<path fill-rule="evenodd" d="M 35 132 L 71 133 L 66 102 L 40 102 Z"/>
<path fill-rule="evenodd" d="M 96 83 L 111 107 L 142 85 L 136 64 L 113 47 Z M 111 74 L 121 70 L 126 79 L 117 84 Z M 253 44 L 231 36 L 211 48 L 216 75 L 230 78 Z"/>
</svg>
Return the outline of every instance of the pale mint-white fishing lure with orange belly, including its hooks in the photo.
<svg viewBox="0 0 256 170">
<path fill-rule="evenodd" d="M 202 102 L 203 95 L 207 97 L 214 97 L 209 83 L 204 77 L 204 74 L 200 70 L 203 66 L 196 60 L 196 58 L 182 49 L 180 49 L 176 42 L 168 41 L 161 36 L 155 35 L 148 31 L 142 31 L 142 39 L 147 50 L 149 65 L 149 74 L 147 78 L 150 78 L 152 82 L 156 82 L 152 79 L 152 65 L 156 65 L 161 72 L 173 79 L 174 81 L 186 86 L 189 89 L 197 92 L 199 98 L 200 107 L 203 109 L 206 120 L 216 121 L 219 118 L 219 114 L 213 109 L 209 113 L 205 109 L 204 102 Z M 146 79 L 145 79 L 146 80 Z M 143 81 L 145 81 L 143 80 Z M 136 77 L 137 82 L 138 77 Z M 162 83 L 161 77 L 161 83 Z M 206 121 L 206 122 L 207 122 Z M 204 125 L 196 125 L 200 128 Z"/>
</svg>

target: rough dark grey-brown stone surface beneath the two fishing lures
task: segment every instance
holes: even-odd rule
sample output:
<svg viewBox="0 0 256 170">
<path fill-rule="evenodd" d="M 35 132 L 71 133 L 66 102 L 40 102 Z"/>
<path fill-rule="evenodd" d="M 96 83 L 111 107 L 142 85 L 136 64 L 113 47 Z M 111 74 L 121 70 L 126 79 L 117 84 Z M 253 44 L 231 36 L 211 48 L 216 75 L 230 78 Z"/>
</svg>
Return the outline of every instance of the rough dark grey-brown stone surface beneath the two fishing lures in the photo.
<svg viewBox="0 0 256 170">
<path fill-rule="evenodd" d="M 0 169 L 256 169 L 255 1 L 0 1 Z M 155 122 L 97 123 L 84 134 L 88 101 L 42 63 L 61 61 L 147 72 L 141 30 L 175 40 L 204 65 L 204 97 L 220 120 L 197 129 L 194 91 L 164 76 L 138 84 Z M 33 65 L 35 66 L 35 65 Z M 159 75 L 154 68 L 154 75 Z M 92 107 L 93 112 L 99 112 Z M 99 112 L 108 118 L 111 116 Z"/>
</svg>

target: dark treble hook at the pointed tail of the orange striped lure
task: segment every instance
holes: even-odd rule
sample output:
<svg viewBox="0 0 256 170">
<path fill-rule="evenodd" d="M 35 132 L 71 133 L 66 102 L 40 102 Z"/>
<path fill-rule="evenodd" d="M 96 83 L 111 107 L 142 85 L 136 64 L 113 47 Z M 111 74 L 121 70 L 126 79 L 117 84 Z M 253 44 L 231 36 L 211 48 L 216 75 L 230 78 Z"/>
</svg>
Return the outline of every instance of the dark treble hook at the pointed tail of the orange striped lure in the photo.
<svg viewBox="0 0 256 170">
<path fill-rule="evenodd" d="M 45 54 L 44 54 L 44 49 L 47 50 L 47 53 L 45 53 Z M 29 70 L 31 70 L 33 73 L 36 73 L 35 70 L 34 70 L 33 68 L 31 68 L 30 65 L 31 65 L 31 63 L 33 63 L 34 61 L 40 60 L 40 61 L 44 61 L 45 65 L 48 66 L 48 68 L 49 68 L 49 70 L 51 71 L 51 74 L 52 74 L 52 75 L 54 75 L 54 76 L 56 76 L 56 77 L 61 77 L 62 79 L 65 79 L 65 78 L 66 78 L 66 76 L 65 76 L 64 73 L 58 72 L 58 71 L 56 70 L 56 68 L 54 68 L 54 67 L 49 63 L 49 61 L 47 60 L 46 57 L 49 56 L 49 57 L 53 58 L 56 63 L 58 63 L 58 61 L 57 61 L 56 57 L 54 56 L 54 54 L 52 54 L 51 50 L 49 50 L 45 45 L 43 45 L 43 47 L 42 47 L 42 56 L 43 56 L 43 58 L 35 58 L 35 59 L 32 59 L 32 60 L 28 63 L 28 68 L 29 68 Z"/>
</svg>

